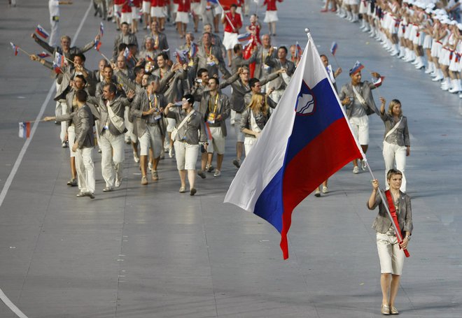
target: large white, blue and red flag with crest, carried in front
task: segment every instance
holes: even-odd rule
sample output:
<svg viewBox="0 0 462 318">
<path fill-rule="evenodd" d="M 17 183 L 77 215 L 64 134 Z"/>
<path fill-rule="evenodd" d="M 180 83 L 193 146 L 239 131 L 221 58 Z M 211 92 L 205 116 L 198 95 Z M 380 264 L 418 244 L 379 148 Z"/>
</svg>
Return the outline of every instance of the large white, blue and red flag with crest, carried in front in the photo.
<svg viewBox="0 0 462 318">
<path fill-rule="evenodd" d="M 287 233 L 293 209 L 362 152 L 311 36 L 300 64 L 225 196 Z"/>
</svg>

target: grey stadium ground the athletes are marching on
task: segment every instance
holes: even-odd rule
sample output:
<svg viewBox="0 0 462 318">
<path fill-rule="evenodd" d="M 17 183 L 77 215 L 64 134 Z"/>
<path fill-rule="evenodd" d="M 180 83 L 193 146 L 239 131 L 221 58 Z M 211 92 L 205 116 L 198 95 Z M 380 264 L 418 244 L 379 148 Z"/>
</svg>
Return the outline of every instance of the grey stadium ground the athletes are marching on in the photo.
<svg viewBox="0 0 462 318">
<path fill-rule="evenodd" d="M 89 4 L 62 6 L 61 34 L 74 36 Z M 396 306 L 404 317 L 461 317 L 461 102 L 423 71 L 389 57 L 357 24 L 321 14 L 320 7 L 318 0 L 281 3 L 274 44 L 304 47 L 309 27 L 320 52 L 337 41 L 339 85 L 356 59 L 365 79 L 367 71 L 386 76 L 376 101 L 400 99 L 412 133 L 407 180 L 414 233 Z M 19 0 L 16 8 L 3 1 L 0 8 L 0 289 L 27 317 L 379 317 L 368 173 L 353 175 L 348 165 L 330 178 L 329 194 L 309 196 L 295 209 L 287 261 L 272 226 L 223 205 L 236 172 L 233 132 L 222 177 L 197 180 L 194 197 L 178 193 L 169 158 L 161 161 L 160 181 L 141 187 L 127 147 L 122 187 L 102 192 L 95 152 L 97 198 L 76 198 L 76 188 L 66 186 L 69 150 L 59 145 L 59 127 L 39 123 L 27 147 L 18 138 L 18 122 L 37 117 L 53 80 L 27 56 L 15 57 L 9 42 L 41 52 L 30 34 L 36 24 L 50 29 L 47 1 Z M 97 34 L 92 13 L 76 45 Z M 102 51 L 109 55 L 116 30 L 110 22 L 105 27 Z M 171 48 L 181 44 L 172 26 L 167 34 Z M 87 67 L 98 60 L 95 50 L 88 52 Z M 54 108 L 45 103 L 44 115 Z M 371 117 L 370 127 L 367 157 L 384 184 L 384 125 Z M 7 182 L 11 171 L 17 173 Z M 0 317 L 16 316 L 0 302 Z"/>
</svg>

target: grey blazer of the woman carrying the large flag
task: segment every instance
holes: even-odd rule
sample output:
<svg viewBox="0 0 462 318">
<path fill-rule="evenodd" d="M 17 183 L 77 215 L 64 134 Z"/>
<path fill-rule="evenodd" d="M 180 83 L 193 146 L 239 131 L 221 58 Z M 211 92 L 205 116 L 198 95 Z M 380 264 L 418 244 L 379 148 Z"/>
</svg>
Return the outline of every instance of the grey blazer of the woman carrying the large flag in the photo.
<svg viewBox="0 0 462 318">
<path fill-rule="evenodd" d="M 386 199 L 385 194 L 384 198 Z M 412 233 L 414 226 L 412 225 L 411 197 L 400 191 L 399 201 L 400 207 L 399 211 L 396 211 L 396 214 L 398 215 L 400 230 L 402 232 L 409 231 L 409 233 Z M 369 210 L 374 210 L 377 208 L 377 205 L 379 205 L 379 214 L 372 224 L 372 229 L 378 233 L 386 233 L 388 229 L 390 229 L 391 219 L 388 217 L 388 213 L 386 212 L 384 203 L 381 201 L 379 193 L 377 192 L 377 196 L 375 196 L 375 203 L 371 208 L 369 208 L 368 202 L 366 202 L 366 205 Z"/>
</svg>

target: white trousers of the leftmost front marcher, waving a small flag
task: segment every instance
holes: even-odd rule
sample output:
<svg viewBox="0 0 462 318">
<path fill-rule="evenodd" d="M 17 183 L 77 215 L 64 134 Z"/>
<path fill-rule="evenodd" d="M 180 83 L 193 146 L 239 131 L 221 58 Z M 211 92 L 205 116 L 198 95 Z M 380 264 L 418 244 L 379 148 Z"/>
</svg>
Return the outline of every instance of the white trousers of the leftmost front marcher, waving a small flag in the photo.
<svg viewBox="0 0 462 318">
<path fill-rule="evenodd" d="M 94 193 L 95 182 L 92 147 L 82 148 L 76 151 L 76 170 L 78 178 L 78 189 L 82 192 Z"/>
</svg>

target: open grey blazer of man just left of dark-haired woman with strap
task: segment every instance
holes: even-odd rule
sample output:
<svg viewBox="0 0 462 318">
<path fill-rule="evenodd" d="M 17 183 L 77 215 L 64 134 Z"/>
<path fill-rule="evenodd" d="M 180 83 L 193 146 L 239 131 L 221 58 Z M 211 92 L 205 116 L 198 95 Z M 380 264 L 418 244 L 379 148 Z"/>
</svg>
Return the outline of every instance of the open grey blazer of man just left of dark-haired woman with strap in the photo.
<svg viewBox="0 0 462 318">
<path fill-rule="evenodd" d="M 162 94 L 155 94 L 155 96 L 158 99 L 158 108 L 165 108 L 165 106 L 167 106 L 167 103 L 165 102 L 164 96 L 162 96 Z M 154 107 L 154 105 L 152 105 L 152 107 Z M 137 96 L 135 96 L 135 98 L 132 101 L 132 107 L 130 108 L 130 113 L 132 114 L 132 117 L 134 117 L 133 133 L 140 138 L 144 135 L 144 131 L 146 131 L 146 125 L 148 124 L 149 117 L 144 116 L 143 112 L 147 112 L 148 110 L 148 93 L 146 92 L 146 90 L 144 90 L 144 92 L 137 93 Z M 160 112 L 160 115 L 163 117 L 163 112 Z M 162 119 L 158 120 L 158 126 L 160 128 L 160 131 L 162 131 Z"/>
</svg>

